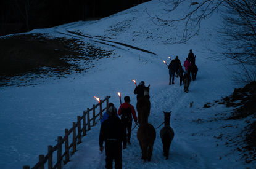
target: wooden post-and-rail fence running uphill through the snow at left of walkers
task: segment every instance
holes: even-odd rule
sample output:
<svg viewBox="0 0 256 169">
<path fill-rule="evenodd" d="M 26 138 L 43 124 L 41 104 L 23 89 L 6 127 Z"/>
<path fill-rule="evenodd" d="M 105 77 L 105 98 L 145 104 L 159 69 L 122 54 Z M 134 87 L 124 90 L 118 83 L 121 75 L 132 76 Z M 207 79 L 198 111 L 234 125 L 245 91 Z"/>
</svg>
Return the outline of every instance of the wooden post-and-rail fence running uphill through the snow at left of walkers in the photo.
<svg viewBox="0 0 256 169">
<path fill-rule="evenodd" d="M 93 105 L 93 108 L 87 109 L 86 111 L 83 111 L 83 116 L 77 116 L 77 122 L 73 122 L 73 127 L 68 129 L 65 129 L 65 136 L 62 138 L 62 136 L 58 136 L 57 138 L 57 144 L 56 146 L 48 146 L 48 153 L 46 155 L 39 155 L 39 162 L 36 163 L 36 165 L 33 167 L 33 169 L 39 168 L 43 169 L 46 162 L 48 162 L 48 169 L 60 169 L 62 166 L 62 160 L 65 163 L 69 162 L 70 157 L 70 149 L 72 149 L 72 154 L 76 152 L 76 145 L 81 143 L 81 138 L 86 135 L 86 131 L 91 130 L 91 127 L 96 125 L 96 119 L 99 117 L 99 119 L 102 118 L 102 112 L 104 112 L 109 107 L 109 98 L 110 96 L 107 96 L 104 100 L 100 100 L 100 102 L 96 105 Z M 102 103 L 106 101 L 106 107 L 102 109 Z M 96 114 L 96 108 L 99 106 L 99 113 Z M 92 112 L 92 117 L 90 117 L 90 112 Z M 81 127 L 83 126 L 83 127 Z M 76 133 L 77 128 L 77 133 Z M 69 136 L 70 134 L 73 134 L 72 143 L 69 144 Z M 65 144 L 65 150 L 62 154 L 62 144 Z M 57 151 L 57 163 L 53 165 L 52 162 L 52 156 L 53 153 Z M 65 157 L 65 160 L 64 160 Z M 28 165 L 23 166 L 23 169 L 30 169 Z"/>
</svg>

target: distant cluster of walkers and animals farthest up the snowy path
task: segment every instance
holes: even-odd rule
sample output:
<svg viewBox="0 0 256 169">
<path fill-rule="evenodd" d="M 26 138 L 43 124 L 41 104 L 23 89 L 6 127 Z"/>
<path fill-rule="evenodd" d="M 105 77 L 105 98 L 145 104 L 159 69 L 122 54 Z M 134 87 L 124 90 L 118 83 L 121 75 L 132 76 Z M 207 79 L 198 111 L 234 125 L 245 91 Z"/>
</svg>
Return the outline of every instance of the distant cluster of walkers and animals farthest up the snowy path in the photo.
<svg viewBox="0 0 256 169">
<path fill-rule="evenodd" d="M 192 49 L 188 53 L 188 57 L 186 58 L 183 64 L 185 71 L 181 66 L 181 61 L 178 58 L 178 56 L 176 56 L 174 60 L 171 60 L 171 63 L 168 65 L 169 76 L 170 76 L 169 85 L 174 84 L 174 79 L 176 74 L 176 77 L 180 77 L 180 85 L 182 85 L 182 82 L 184 84 L 184 92 L 188 92 L 188 87 L 191 82 L 190 74 L 191 74 L 193 65 L 196 66 L 196 56 L 194 55 L 194 53 L 192 53 Z"/>
</svg>

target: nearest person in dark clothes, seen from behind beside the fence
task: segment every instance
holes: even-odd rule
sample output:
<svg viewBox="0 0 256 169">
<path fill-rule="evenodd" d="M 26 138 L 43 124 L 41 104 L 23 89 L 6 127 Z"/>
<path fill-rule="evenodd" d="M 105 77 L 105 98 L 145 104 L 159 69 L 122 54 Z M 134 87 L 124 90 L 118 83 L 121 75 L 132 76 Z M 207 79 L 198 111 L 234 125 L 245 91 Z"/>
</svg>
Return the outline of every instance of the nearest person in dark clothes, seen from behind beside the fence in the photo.
<svg viewBox="0 0 256 169">
<path fill-rule="evenodd" d="M 126 149 L 126 132 L 121 120 L 115 116 L 113 107 L 109 108 L 109 117 L 104 120 L 99 132 L 99 150 L 104 150 L 105 141 L 105 168 L 113 168 L 115 160 L 115 169 L 122 168 L 122 142 L 123 149 Z"/>
</svg>

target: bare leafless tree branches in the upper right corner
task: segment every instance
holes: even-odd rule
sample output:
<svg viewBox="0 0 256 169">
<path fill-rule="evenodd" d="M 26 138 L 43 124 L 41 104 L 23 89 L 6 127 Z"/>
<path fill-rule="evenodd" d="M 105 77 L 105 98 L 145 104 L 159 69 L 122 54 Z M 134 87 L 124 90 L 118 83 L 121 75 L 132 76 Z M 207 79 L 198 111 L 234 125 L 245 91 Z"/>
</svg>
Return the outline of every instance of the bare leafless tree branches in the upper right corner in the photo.
<svg viewBox="0 0 256 169">
<path fill-rule="evenodd" d="M 160 0 L 165 4 L 163 9 L 168 16 L 176 12 L 184 4 L 190 4 L 188 10 L 180 18 L 164 19 L 156 14 L 150 15 L 157 25 L 184 23 L 183 34 L 179 41 L 186 42 L 200 30 L 200 23 L 210 17 L 213 12 L 225 9 L 224 27 L 220 29 L 218 44 L 221 51 L 219 59 L 231 58 L 241 65 L 249 81 L 255 81 L 256 74 L 256 3 L 255 0 Z"/>
</svg>

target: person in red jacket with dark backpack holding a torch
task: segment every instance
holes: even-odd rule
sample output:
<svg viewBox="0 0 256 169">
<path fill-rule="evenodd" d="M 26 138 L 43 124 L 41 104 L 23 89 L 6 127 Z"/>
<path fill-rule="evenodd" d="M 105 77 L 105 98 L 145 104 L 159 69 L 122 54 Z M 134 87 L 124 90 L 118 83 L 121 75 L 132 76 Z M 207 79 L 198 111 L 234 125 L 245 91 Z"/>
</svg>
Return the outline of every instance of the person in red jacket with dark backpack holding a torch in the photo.
<svg viewBox="0 0 256 169">
<path fill-rule="evenodd" d="M 121 104 L 120 108 L 118 109 L 118 115 L 121 116 L 121 122 L 125 127 L 125 132 L 127 131 L 127 142 L 131 144 L 131 126 L 132 122 L 137 124 L 137 116 L 133 105 L 130 104 L 130 97 L 125 96 L 125 103 Z M 131 117 L 133 116 L 133 118 Z"/>
</svg>

